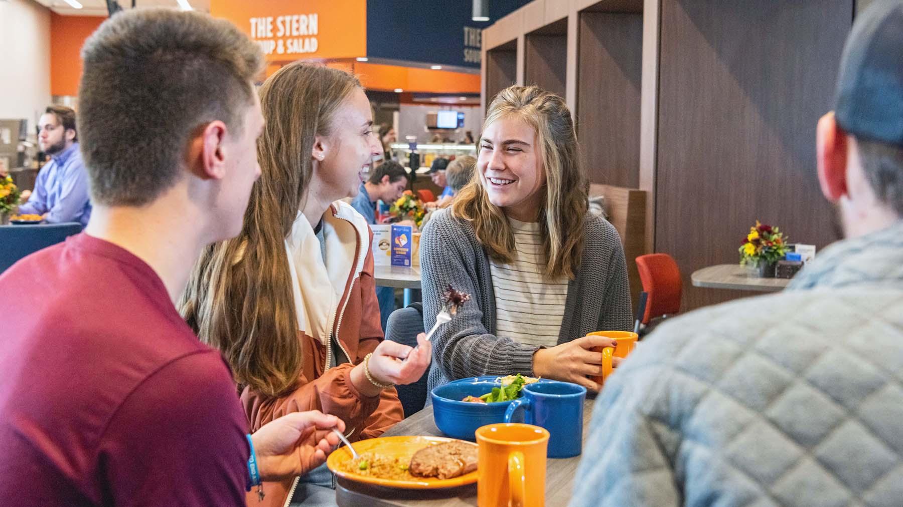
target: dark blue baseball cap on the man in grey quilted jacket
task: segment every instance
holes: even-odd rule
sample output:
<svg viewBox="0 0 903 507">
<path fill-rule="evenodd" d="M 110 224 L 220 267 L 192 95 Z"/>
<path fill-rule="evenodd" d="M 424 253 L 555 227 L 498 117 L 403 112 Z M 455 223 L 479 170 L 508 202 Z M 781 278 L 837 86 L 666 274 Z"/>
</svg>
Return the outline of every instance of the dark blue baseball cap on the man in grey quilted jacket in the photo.
<svg viewBox="0 0 903 507">
<path fill-rule="evenodd" d="M 878 0 L 856 17 L 834 112 L 848 134 L 903 146 L 903 1 Z"/>
</svg>

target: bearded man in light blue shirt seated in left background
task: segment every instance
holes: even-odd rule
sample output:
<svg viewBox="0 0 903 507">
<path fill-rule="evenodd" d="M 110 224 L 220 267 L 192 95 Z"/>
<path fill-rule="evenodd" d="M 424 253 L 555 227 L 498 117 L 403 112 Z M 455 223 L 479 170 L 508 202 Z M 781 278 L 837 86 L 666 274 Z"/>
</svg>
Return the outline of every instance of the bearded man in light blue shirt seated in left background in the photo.
<svg viewBox="0 0 903 507">
<path fill-rule="evenodd" d="M 42 215 L 48 223 L 79 222 L 88 225 L 91 203 L 88 172 L 81 161 L 75 111 L 66 106 L 48 106 L 39 122 L 38 143 L 51 161 L 38 174 L 28 202 L 20 215 Z"/>
</svg>

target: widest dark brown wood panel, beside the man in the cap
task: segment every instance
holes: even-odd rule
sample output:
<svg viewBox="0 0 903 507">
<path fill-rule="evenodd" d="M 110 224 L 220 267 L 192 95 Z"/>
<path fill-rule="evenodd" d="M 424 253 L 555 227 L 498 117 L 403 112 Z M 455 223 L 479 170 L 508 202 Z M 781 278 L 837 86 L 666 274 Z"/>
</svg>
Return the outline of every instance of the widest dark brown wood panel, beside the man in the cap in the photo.
<svg viewBox="0 0 903 507">
<path fill-rule="evenodd" d="M 815 173 L 852 0 L 663 0 L 656 252 L 684 273 L 684 307 L 736 298 L 690 274 L 736 263 L 756 219 L 824 247 L 834 212 Z"/>
</svg>

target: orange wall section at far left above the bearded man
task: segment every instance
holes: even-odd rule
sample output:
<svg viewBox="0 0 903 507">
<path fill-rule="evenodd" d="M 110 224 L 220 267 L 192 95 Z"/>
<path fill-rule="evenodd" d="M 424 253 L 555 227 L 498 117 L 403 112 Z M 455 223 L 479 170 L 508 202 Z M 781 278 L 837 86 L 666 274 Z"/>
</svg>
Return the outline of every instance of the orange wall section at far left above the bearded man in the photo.
<svg viewBox="0 0 903 507">
<path fill-rule="evenodd" d="M 79 94 L 81 46 L 106 19 L 51 13 L 51 95 Z"/>
</svg>

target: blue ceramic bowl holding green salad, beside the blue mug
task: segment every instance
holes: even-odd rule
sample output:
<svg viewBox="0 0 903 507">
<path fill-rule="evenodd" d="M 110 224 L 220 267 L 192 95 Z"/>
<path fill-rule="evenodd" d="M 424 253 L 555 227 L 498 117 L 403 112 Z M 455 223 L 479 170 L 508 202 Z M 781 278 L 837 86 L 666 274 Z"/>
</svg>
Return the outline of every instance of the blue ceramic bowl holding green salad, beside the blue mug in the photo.
<svg viewBox="0 0 903 507">
<path fill-rule="evenodd" d="M 508 401 L 497 403 L 471 403 L 461 401 L 466 396 L 481 396 L 500 387 L 498 376 L 460 379 L 433 388 L 433 420 L 445 435 L 473 441 L 480 426 L 504 422 Z M 521 410 L 522 412 L 522 410 Z M 521 414 L 518 414 L 522 416 Z M 522 419 L 522 418 L 521 418 Z"/>
</svg>

